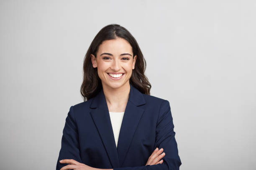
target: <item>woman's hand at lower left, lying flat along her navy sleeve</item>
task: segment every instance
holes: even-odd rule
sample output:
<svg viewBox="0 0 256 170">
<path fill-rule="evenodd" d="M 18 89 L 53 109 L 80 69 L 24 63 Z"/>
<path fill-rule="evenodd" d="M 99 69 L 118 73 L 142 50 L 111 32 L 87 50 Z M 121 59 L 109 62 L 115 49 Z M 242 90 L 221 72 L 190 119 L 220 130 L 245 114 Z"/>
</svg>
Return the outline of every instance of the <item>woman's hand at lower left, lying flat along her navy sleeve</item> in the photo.
<svg viewBox="0 0 256 170">
<path fill-rule="evenodd" d="M 60 170 L 95 170 L 95 168 L 92 168 L 83 163 L 79 163 L 76 160 L 72 160 L 72 159 L 64 159 L 64 160 L 60 160 L 59 162 L 69 163 L 69 165 L 62 167 Z"/>
</svg>

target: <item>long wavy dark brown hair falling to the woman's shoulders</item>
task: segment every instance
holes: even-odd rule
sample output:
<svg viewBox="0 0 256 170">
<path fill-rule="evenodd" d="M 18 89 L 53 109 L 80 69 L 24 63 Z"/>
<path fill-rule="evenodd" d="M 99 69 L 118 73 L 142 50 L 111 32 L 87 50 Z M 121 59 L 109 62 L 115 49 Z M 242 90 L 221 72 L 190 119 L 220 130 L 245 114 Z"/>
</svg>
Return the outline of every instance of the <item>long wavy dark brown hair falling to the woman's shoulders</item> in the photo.
<svg viewBox="0 0 256 170">
<path fill-rule="evenodd" d="M 149 83 L 148 78 L 144 74 L 146 70 L 146 60 L 143 57 L 137 41 L 135 40 L 133 35 L 131 35 L 131 33 L 124 27 L 118 24 L 110 24 L 103 27 L 100 32 L 97 33 L 84 57 L 84 76 L 80 89 L 80 92 L 84 97 L 84 101 L 95 97 L 97 93 L 102 90 L 102 82 L 100 80 L 100 77 L 98 76 L 97 67 L 92 67 L 90 55 L 93 54 L 95 55 L 95 57 L 97 57 L 96 54 L 98 48 L 103 41 L 113 40 L 118 37 L 123 38 L 130 43 L 133 49 L 133 58 L 135 55 L 137 55 L 135 67 L 132 70 L 132 75 L 129 79 L 129 82 L 141 93 L 150 95 L 151 84 Z"/>
</svg>

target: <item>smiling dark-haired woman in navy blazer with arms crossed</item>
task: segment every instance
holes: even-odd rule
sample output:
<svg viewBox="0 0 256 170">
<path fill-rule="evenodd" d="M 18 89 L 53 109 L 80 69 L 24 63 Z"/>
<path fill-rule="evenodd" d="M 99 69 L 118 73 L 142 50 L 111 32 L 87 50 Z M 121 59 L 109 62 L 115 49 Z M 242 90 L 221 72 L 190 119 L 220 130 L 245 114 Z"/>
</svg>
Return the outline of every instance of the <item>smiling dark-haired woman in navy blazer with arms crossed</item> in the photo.
<svg viewBox="0 0 256 170">
<path fill-rule="evenodd" d="M 84 58 L 84 102 L 70 107 L 56 170 L 179 169 L 169 102 L 150 95 L 145 69 L 128 30 L 112 24 L 98 32 Z"/>
</svg>

